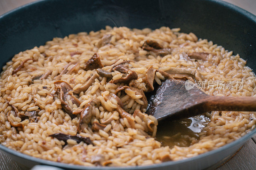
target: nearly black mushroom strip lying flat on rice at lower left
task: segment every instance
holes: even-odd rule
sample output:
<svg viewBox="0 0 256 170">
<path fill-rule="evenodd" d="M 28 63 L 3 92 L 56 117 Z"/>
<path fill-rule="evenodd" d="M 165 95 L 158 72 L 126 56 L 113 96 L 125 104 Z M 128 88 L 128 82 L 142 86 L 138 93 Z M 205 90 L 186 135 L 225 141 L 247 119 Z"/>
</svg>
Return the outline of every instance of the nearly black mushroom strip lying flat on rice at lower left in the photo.
<svg viewBox="0 0 256 170">
<path fill-rule="evenodd" d="M 64 146 L 68 144 L 67 143 L 68 139 L 73 139 L 78 144 L 80 142 L 84 142 L 85 144 L 92 144 L 93 145 L 93 143 L 92 143 L 92 141 L 89 137 L 81 137 L 81 136 L 78 136 L 78 135 L 74 135 L 74 136 L 73 135 L 66 135 L 64 133 L 55 133 L 55 134 L 49 135 L 49 137 L 52 137 L 52 138 L 55 137 L 59 141 L 61 141 L 61 140 L 64 141 L 65 142 Z"/>
</svg>

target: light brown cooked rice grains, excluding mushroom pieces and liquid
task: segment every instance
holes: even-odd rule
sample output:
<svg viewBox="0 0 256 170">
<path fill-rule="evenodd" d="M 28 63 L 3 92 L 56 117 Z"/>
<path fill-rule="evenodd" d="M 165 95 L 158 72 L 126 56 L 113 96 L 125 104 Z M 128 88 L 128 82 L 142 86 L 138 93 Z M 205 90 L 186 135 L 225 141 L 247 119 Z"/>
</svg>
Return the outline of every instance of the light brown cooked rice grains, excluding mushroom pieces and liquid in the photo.
<svg viewBox="0 0 256 170">
<path fill-rule="evenodd" d="M 50 94 L 54 90 L 55 78 L 69 62 L 80 61 L 78 71 L 71 74 L 63 74 L 61 80 L 70 82 L 73 89 L 78 89 L 95 70 L 85 71 L 86 61 L 98 51 L 103 65 L 111 65 L 118 59 L 131 60 L 130 69 L 138 74 L 137 80 L 132 83 L 139 89 L 147 91 L 145 84 L 145 72 L 153 65 L 160 70 L 168 70 L 170 67 L 193 68 L 200 71 L 206 84 L 208 81 L 243 81 L 242 89 L 219 89 L 211 86 L 205 89 L 205 93 L 218 96 L 256 96 L 255 75 L 247 67 L 246 62 L 240 56 L 233 55 L 232 51 L 225 50 L 222 46 L 213 44 L 206 39 L 197 39 L 193 33 L 179 33 L 180 29 L 170 29 L 161 27 L 156 30 L 145 28 L 128 29 L 126 27 L 106 26 L 105 30 L 90 33 L 70 34 L 64 38 L 54 38 L 46 42 L 44 46 L 35 47 L 16 54 L 12 61 L 6 63 L 1 73 L 0 85 L 0 143 L 13 150 L 37 157 L 69 164 L 83 166 L 95 166 L 92 159 L 101 155 L 104 157 L 103 166 L 137 166 L 161 163 L 166 155 L 172 160 L 194 157 L 198 154 L 216 149 L 230 143 L 255 128 L 256 115 L 254 112 L 219 112 L 211 113 L 211 122 L 199 134 L 200 140 L 189 146 L 179 147 L 161 146 L 153 135 L 156 133 L 157 121 L 153 116 L 149 116 L 154 121 L 154 131 L 150 135 L 147 133 L 147 126 L 138 116 L 134 118 L 135 125 L 129 124 L 126 118 L 121 118 L 116 111 L 117 101 L 115 99 L 105 100 L 104 95 L 115 92 L 119 85 L 108 83 L 106 78 L 95 79 L 92 86 L 85 92 L 80 92 L 76 97 L 81 101 L 77 107 L 71 100 L 68 104 L 72 109 L 83 108 L 92 98 L 100 100 L 100 106 L 93 110 L 91 123 L 96 119 L 98 122 L 108 120 L 111 116 L 113 120 L 99 132 L 92 131 L 90 126 L 83 129 L 79 135 L 90 137 L 93 144 L 83 142 L 77 144 L 75 140 L 68 140 L 64 148 L 63 141 L 51 138 L 54 133 L 65 133 L 69 135 L 77 134 L 78 118 L 71 119 L 70 116 L 61 109 L 59 99 L 53 100 Z M 97 48 L 97 43 L 105 34 L 112 34 L 111 44 Z M 147 55 L 147 51 L 142 50 L 142 44 L 146 40 L 155 40 L 165 48 L 172 48 L 170 55 L 164 57 Z M 74 52 L 80 52 L 74 53 Z M 208 52 L 207 61 L 186 60 L 181 57 L 182 53 L 188 52 Z M 70 55 L 73 53 L 75 55 Z M 44 56 L 46 55 L 46 57 Z M 29 60 L 24 64 L 24 68 L 12 75 L 12 71 L 18 67 L 21 61 L 33 58 L 36 62 Z M 73 65 L 68 67 L 71 69 Z M 104 70 L 109 70 L 111 66 L 105 66 Z M 46 70 L 52 73 L 43 80 L 34 80 L 29 85 L 32 76 L 44 74 Z M 112 72 L 113 79 L 120 78 L 121 73 Z M 161 84 L 164 77 L 156 72 L 155 80 Z M 46 86 L 47 88 L 43 88 Z M 34 91 L 35 88 L 37 92 Z M 35 94 L 36 92 L 36 94 Z M 125 90 L 125 93 L 118 94 L 124 104 L 124 109 L 133 113 L 140 108 L 143 101 L 141 95 Z M 35 100 L 37 103 L 35 104 Z M 36 122 L 15 117 L 11 111 L 12 122 L 24 125 L 24 129 L 18 130 L 10 125 L 7 114 L 13 105 L 22 111 L 33 111 L 40 109 L 40 119 Z M 145 111 L 145 109 L 144 109 Z"/>
</svg>

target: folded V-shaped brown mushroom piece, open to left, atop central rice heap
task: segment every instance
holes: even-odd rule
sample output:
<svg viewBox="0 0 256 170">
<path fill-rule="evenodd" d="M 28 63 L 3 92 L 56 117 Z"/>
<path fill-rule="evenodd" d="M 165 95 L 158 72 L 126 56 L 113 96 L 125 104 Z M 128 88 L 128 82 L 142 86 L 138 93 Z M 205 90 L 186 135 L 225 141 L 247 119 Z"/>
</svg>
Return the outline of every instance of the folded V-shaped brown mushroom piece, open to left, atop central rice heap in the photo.
<svg viewBox="0 0 256 170">
<path fill-rule="evenodd" d="M 114 68 L 114 70 L 119 71 L 121 73 L 127 74 L 125 77 L 118 78 L 116 80 L 113 80 L 113 83 L 125 83 L 128 84 L 131 80 L 137 80 L 138 75 L 135 71 L 128 69 L 124 65 L 118 65 Z M 130 73 L 129 73 L 130 72 Z"/>
</svg>

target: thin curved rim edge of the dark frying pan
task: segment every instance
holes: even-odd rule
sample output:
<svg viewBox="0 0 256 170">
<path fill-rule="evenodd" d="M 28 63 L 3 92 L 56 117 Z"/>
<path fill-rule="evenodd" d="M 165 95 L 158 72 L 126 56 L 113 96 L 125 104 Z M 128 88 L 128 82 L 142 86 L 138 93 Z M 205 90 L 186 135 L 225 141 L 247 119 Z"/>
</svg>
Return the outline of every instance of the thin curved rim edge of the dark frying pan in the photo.
<svg viewBox="0 0 256 170">
<path fill-rule="evenodd" d="M 8 11 L 6 13 L 4 13 L 3 15 L 0 16 L 0 20 L 7 17 L 8 15 L 11 15 L 12 13 L 22 10 L 23 8 L 27 8 L 30 5 L 36 5 L 36 4 L 40 4 L 40 3 L 46 3 L 47 1 L 51 1 L 51 0 L 37 0 L 28 4 L 24 4 L 20 7 L 17 7 L 11 11 Z M 57 1 L 57 0 L 56 0 Z M 206 1 L 206 0 L 200 0 L 200 1 Z M 224 2 L 221 0 L 208 0 L 212 3 L 216 3 L 219 4 L 225 8 L 229 8 L 233 11 L 236 11 L 238 13 L 240 13 L 241 15 L 243 15 L 246 18 L 249 18 L 250 20 L 252 20 L 255 24 L 256 24 L 256 16 L 253 15 L 252 13 L 236 6 L 233 4 L 230 4 L 228 2 Z M 250 131 L 249 133 L 247 133 L 246 135 L 240 137 L 239 139 L 229 143 L 229 144 L 225 144 L 224 146 L 221 146 L 220 148 L 214 149 L 212 151 L 208 151 L 202 154 L 199 154 L 195 157 L 191 157 L 191 158 L 187 158 L 187 159 L 182 159 L 182 160 L 177 160 L 177 161 L 168 161 L 168 162 L 163 162 L 160 164 L 152 164 L 149 166 L 127 166 L 127 167 L 122 167 L 122 166 L 115 166 L 115 167 L 108 167 L 108 166 L 80 166 L 80 165 L 73 165 L 73 164 L 66 164 L 66 163 L 60 163 L 60 162 L 55 162 L 55 161 L 50 161 L 50 160 L 46 160 L 46 159 L 41 159 L 41 158 L 36 158 L 33 156 L 29 156 L 27 154 L 12 150 L 2 144 L 0 144 L 0 150 L 17 156 L 17 157 L 21 157 L 22 159 L 27 159 L 29 161 L 33 161 L 33 162 L 37 162 L 39 164 L 43 164 L 43 165 L 50 165 L 50 166 L 56 166 L 56 167 L 60 167 L 60 168 L 69 168 L 69 169 L 87 169 L 87 170 L 130 170 L 130 169 L 138 169 L 138 170 L 144 170 L 144 169 L 150 169 L 150 168 L 160 168 L 160 167 L 166 167 L 166 166 L 174 166 L 174 165 L 178 165 L 178 164 L 183 164 L 183 163 L 187 163 L 187 162 L 193 162 L 197 159 L 201 159 L 203 157 L 208 157 L 210 155 L 213 155 L 215 153 L 218 153 L 220 151 L 223 150 L 227 150 L 233 146 L 239 145 L 239 144 L 243 144 L 244 142 L 246 142 L 247 140 L 249 140 L 249 138 L 251 138 L 252 136 L 254 136 L 256 134 L 256 128 L 253 129 L 252 131 Z"/>
</svg>

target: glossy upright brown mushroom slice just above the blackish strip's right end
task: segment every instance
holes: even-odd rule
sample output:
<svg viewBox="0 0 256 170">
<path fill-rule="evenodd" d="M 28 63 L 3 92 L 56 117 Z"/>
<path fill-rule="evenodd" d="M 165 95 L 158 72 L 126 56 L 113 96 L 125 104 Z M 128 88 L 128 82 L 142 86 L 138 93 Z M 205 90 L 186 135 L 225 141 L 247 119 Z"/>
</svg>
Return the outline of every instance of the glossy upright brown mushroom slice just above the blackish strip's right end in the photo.
<svg viewBox="0 0 256 170">
<path fill-rule="evenodd" d="M 79 123 L 77 125 L 77 131 L 81 132 L 83 129 L 83 126 L 85 124 L 90 123 L 92 118 L 92 111 L 94 108 L 98 107 L 100 105 L 100 101 L 98 99 L 93 99 L 89 103 L 87 103 L 82 110 L 79 118 Z"/>
</svg>

